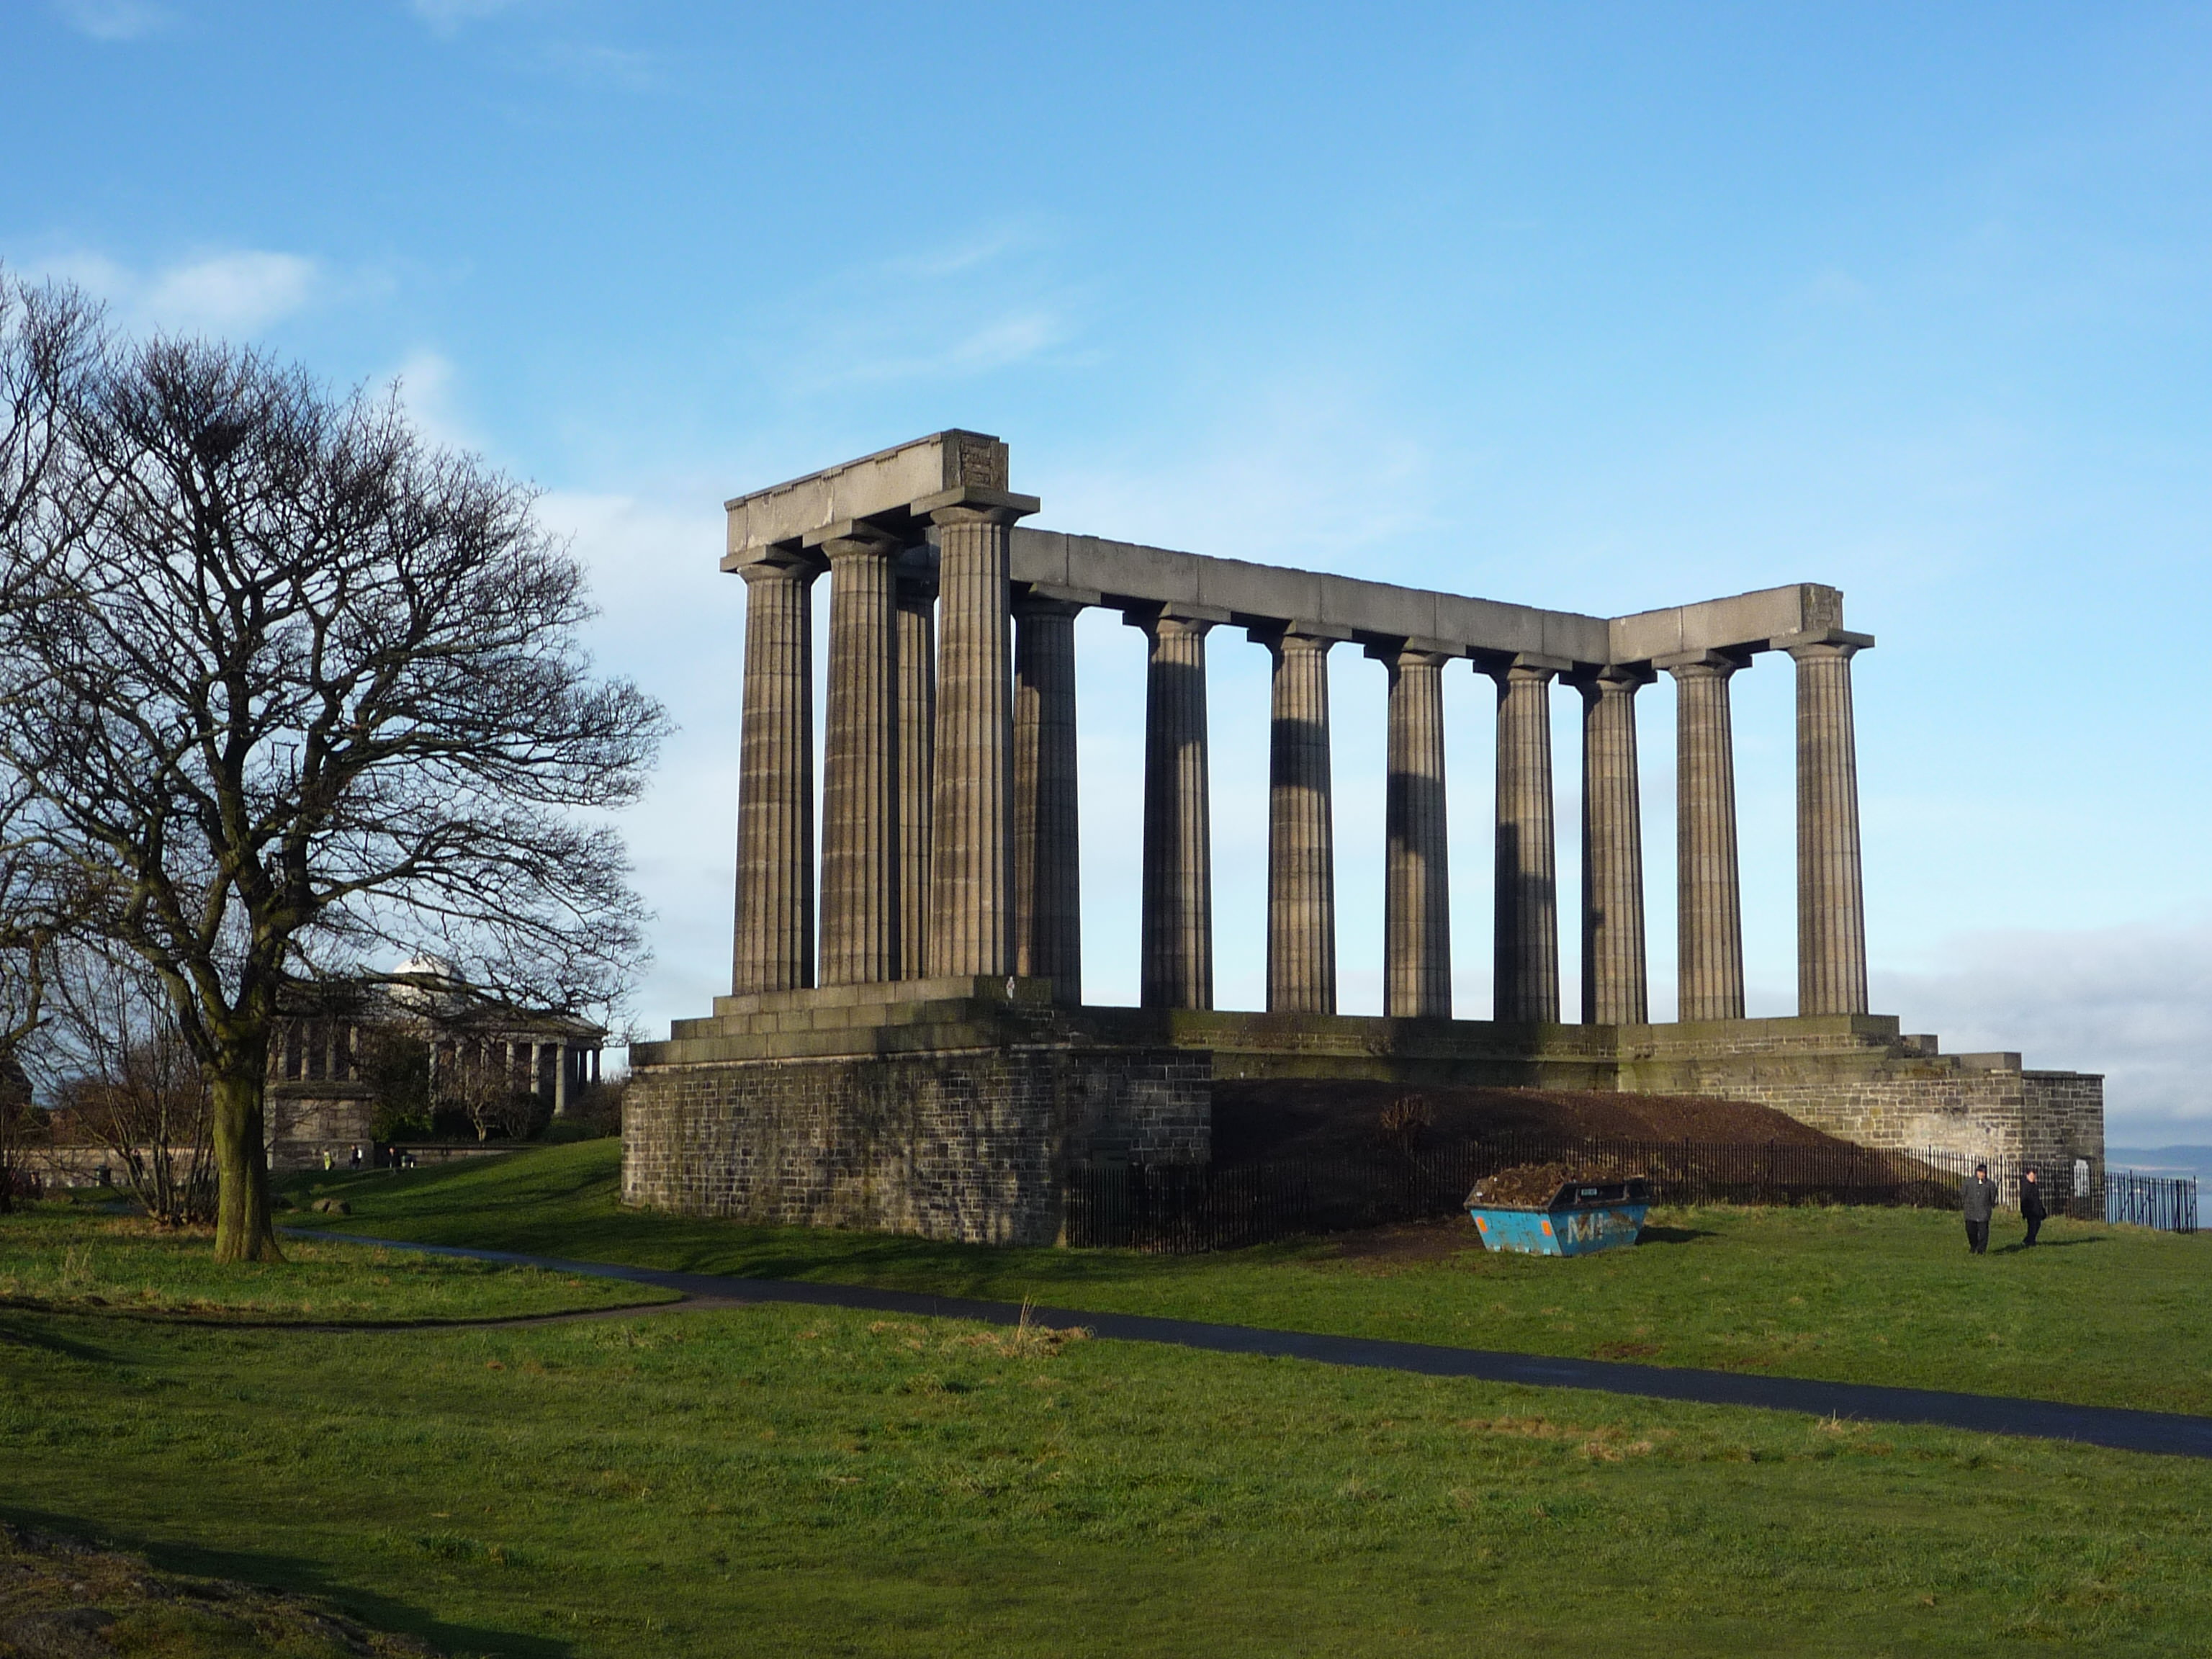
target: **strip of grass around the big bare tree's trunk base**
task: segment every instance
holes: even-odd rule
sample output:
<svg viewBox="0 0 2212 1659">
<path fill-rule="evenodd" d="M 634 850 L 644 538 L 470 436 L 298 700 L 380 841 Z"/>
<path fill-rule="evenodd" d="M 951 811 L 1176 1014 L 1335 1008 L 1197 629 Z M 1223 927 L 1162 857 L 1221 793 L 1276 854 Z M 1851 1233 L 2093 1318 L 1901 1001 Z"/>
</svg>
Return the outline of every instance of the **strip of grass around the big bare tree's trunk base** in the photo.
<svg viewBox="0 0 2212 1659">
<path fill-rule="evenodd" d="M 24 1206 L 0 1217 L 0 1307 L 299 1323 L 515 1318 L 672 1298 L 646 1285 L 325 1239 L 288 1239 L 285 1263 L 217 1267 L 212 1237 L 84 1203 Z"/>
</svg>

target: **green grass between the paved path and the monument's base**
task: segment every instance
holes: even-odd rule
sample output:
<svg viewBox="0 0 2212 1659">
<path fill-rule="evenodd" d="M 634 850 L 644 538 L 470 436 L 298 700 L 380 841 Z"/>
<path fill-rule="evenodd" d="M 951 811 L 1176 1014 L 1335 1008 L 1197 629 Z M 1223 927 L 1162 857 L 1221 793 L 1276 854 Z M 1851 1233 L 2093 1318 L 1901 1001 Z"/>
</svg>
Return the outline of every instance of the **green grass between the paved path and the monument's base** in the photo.
<svg viewBox="0 0 2212 1659">
<path fill-rule="evenodd" d="M 1646 1243 L 1486 1254 L 1471 1228 L 1214 1256 L 991 1250 L 626 1212 L 613 1141 L 407 1175 L 312 1177 L 336 1225 L 586 1261 L 998 1296 L 1102 1312 L 1637 1358 L 1847 1383 L 2212 1411 L 2212 1234 L 2055 1221 L 1969 1256 L 1924 1210 L 1657 1210 Z M 1464 1248 L 1455 1248 L 1464 1243 Z"/>
</svg>

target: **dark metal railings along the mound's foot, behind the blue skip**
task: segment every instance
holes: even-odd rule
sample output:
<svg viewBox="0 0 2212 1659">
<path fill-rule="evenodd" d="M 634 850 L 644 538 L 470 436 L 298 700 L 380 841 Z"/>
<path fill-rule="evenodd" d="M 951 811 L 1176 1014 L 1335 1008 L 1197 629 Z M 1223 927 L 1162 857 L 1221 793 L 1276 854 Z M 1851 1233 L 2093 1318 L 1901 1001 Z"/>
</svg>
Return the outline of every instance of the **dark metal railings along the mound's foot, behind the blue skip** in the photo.
<svg viewBox="0 0 2212 1659">
<path fill-rule="evenodd" d="M 1431 1221 L 1455 1214 L 1484 1175 L 1520 1164 L 1566 1164 L 1577 1175 L 1597 1179 L 1641 1175 L 1650 1181 L 1655 1203 L 1882 1203 L 1949 1210 L 1958 1208 L 1960 1183 L 1973 1172 L 1975 1159 L 1936 1148 L 1885 1152 L 1840 1144 L 1500 1135 L 1413 1152 L 1228 1170 L 1130 1164 L 1075 1170 L 1068 1177 L 1062 1237 L 1077 1248 L 1192 1254 L 1310 1232 Z M 1995 1175 L 2011 1197 L 2017 1190 L 2013 1172 Z M 2073 1194 L 2070 1170 L 2055 1168 L 2048 1177 L 2046 1203 L 2053 1214 L 2099 1214 L 2095 1197 Z M 2188 1186 L 2185 1225 L 2194 1228 L 2194 1183 Z M 2130 1201 L 2152 1206 L 2141 1208 L 2143 1214 L 2183 1212 L 2172 1197 Z M 2108 1181 L 2106 1214 L 2110 1210 Z"/>
</svg>

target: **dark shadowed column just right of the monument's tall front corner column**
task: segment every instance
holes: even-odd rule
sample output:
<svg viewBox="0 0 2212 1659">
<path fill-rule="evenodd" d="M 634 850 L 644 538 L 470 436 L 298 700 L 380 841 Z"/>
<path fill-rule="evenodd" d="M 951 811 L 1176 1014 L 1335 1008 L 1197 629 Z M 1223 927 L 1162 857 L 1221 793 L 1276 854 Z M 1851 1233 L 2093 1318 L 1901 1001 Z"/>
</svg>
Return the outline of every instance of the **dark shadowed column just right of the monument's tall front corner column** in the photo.
<svg viewBox="0 0 2212 1659">
<path fill-rule="evenodd" d="M 1082 599 L 1013 602 L 1013 971 L 1084 1000 L 1084 883 L 1075 823 L 1075 617 Z"/>
</svg>

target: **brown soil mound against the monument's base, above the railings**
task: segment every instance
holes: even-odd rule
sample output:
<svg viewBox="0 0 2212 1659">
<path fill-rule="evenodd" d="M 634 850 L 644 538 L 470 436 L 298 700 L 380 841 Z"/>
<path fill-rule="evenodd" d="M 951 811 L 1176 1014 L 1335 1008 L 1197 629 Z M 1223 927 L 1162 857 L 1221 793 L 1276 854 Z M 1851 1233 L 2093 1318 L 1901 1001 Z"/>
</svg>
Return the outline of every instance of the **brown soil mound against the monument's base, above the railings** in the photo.
<svg viewBox="0 0 2212 1659">
<path fill-rule="evenodd" d="M 1217 1168 L 1274 1159 L 1360 1157 L 1383 1146 L 1453 1146 L 1515 1133 L 1754 1146 L 1838 1144 L 1832 1135 L 1770 1106 L 1710 1095 L 1310 1079 L 1214 1084 Z"/>
</svg>

